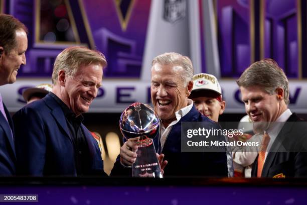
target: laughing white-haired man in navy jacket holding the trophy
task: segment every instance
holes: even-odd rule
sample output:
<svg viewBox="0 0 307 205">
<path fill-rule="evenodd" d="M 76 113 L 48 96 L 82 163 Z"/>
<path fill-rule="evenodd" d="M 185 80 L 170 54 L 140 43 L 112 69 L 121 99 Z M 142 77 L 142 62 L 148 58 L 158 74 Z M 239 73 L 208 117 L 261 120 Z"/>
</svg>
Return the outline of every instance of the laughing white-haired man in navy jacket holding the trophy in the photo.
<svg viewBox="0 0 307 205">
<path fill-rule="evenodd" d="M 193 66 L 187 56 L 165 53 L 154 58 L 151 100 L 162 122 L 154 143 L 157 153 L 165 156 L 161 164 L 162 168 L 165 167 L 165 176 L 231 176 L 232 165 L 227 164 L 226 152 L 182 152 L 181 143 L 185 138 L 181 135 L 183 122 L 207 122 L 210 128 L 218 127 L 196 110 L 193 101 L 188 98 L 192 88 Z M 225 140 L 221 136 L 219 139 Z M 136 150 L 133 140 L 126 141 L 120 148 L 120 157 L 111 175 L 129 175 L 131 169 L 128 167 L 136 159 Z"/>
</svg>

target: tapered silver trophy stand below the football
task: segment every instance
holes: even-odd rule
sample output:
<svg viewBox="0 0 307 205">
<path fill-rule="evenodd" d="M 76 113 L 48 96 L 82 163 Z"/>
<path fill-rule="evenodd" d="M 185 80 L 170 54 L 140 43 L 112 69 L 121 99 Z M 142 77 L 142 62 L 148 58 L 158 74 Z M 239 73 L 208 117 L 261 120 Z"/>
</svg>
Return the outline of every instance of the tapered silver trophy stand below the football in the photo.
<svg viewBox="0 0 307 205">
<path fill-rule="evenodd" d="M 141 137 L 138 145 L 137 157 L 132 166 L 133 177 L 163 178 L 160 163 L 152 139 Z"/>
</svg>

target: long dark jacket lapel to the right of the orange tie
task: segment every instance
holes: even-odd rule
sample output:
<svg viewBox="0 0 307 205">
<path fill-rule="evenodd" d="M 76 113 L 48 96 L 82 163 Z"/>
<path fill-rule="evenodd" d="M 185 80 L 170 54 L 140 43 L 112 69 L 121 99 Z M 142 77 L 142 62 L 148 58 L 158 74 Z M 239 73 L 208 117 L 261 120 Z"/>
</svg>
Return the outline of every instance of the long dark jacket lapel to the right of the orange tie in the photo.
<svg viewBox="0 0 307 205">
<path fill-rule="evenodd" d="M 294 121 L 296 121 L 296 120 L 297 120 L 297 116 L 296 116 L 295 113 L 293 113 L 289 117 L 289 119 L 286 121 L 287 126 L 283 126 L 282 129 L 280 130 L 279 134 L 277 135 L 274 143 L 272 144 L 272 147 L 270 148 L 270 150 L 275 150 L 275 151 L 274 152 L 269 151 L 267 153 L 266 160 L 264 162 L 262 173 L 261 173 L 262 177 L 268 176 L 269 168 L 271 167 L 272 162 L 273 162 L 276 154 L 279 151 L 285 150 L 285 148 L 282 146 L 282 142 L 283 142 L 284 138 L 286 136 L 288 136 L 288 133 L 291 131 L 292 125 L 293 125 Z M 258 159 L 258 157 L 257 157 L 257 159 Z"/>
</svg>

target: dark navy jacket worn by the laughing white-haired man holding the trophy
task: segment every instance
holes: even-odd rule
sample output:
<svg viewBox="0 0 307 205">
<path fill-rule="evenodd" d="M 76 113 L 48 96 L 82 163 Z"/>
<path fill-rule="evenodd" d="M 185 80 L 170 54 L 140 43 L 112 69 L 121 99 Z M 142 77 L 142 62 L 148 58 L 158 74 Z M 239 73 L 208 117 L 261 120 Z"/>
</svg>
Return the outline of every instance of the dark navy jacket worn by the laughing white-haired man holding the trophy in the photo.
<svg viewBox="0 0 307 205">
<path fill-rule="evenodd" d="M 209 118 L 201 115 L 193 106 L 191 111 L 175 124 L 165 142 L 162 153 L 168 165 L 165 168 L 165 176 L 228 176 L 226 152 L 182 152 L 181 151 L 181 123 L 182 122 L 209 122 L 213 128 L 219 126 Z M 184 137 L 184 136 L 183 136 Z M 221 137 L 220 141 L 225 138 Z M 161 152 L 159 136 L 154 138 L 156 151 Z M 131 176 L 131 168 L 125 168 L 120 164 L 120 157 L 114 164 L 111 176 Z"/>
</svg>

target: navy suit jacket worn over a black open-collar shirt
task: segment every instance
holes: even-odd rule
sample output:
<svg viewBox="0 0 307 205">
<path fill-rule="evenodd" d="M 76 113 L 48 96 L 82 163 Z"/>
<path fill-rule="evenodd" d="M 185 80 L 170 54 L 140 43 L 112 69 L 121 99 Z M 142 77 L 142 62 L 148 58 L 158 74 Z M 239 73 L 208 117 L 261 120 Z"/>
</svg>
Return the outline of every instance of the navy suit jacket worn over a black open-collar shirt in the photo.
<svg viewBox="0 0 307 205">
<path fill-rule="evenodd" d="M 64 113 L 50 95 L 25 106 L 13 116 L 16 130 L 17 173 L 19 175 L 76 176 L 74 145 Z M 84 175 L 102 174 L 103 161 L 97 142 L 81 124 L 89 155 Z"/>
</svg>

